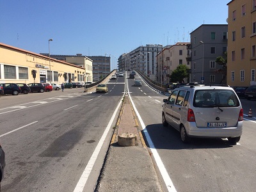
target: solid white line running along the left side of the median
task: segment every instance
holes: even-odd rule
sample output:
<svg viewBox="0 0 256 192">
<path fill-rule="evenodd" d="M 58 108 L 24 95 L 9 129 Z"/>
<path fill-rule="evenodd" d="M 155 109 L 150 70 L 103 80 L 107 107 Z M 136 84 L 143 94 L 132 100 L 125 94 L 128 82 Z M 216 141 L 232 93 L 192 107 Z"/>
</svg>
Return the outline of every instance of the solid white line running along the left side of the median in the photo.
<svg viewBox="0 0 256 192">
<path fill-rule="evenodd" d="M 124 95 L 123 95 L 123 97 L 124 97 Z M 85 186 L 85 184 L 86 184 L 86 182 L 88 180 L 88 177 L 89 177 L 90 173 L 92 172 L 93 165 L 94 165 L 94 163 L 95 163 L 95 161 L 96 161 L 96 159 L 97 159 L 97 157 L 99 155 L 100 148 L 102 147 L 102 145 L 104 143 L 104 140 L 106 140 L 106 137 L 108 135 L 109 129 L 111 128 L 111 124 L 113 124 L 113 121 L 114 121 L 114 118 L 116 116 L 116 113 L 117 113 L 117 111 L 118 111 L 118 109 L 119 109 L 119 107 L 120 107 L 120 105 L 122 103 L 122 98 L 120 99 L 120 102 L 119 102 L 118 106 L 116 107 L 116 109 L 115 109 L 115 111 L 114 111 L 114 113 L 113 113 L 113 115 L 112 115 L 112 117 L 111 117 L 111 119 L 110 119 L 110 121 L 108 123 L 108 126 L 106 127 L 104 133 L 102 134 L 97 147 L 95 148 L 92 156 L 90 157 L 90 160 L 88 161 L 88 164 L 86 165 L 86 168 L 84 169 L 83 174 L 81 175 L 79 181 L 77 182 L 76 188 L 74 189 L 74 192 L 81 192 L 81 191 L 83 191 L 84 186 Z"/>
</svg>

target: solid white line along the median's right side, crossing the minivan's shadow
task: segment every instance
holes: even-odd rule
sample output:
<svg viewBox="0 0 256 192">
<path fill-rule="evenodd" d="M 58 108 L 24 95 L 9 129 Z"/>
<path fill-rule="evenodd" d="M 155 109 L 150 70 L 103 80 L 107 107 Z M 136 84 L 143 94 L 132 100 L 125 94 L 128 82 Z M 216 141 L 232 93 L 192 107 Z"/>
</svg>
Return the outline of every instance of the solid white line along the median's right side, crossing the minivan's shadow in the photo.
<svg viewBox="0 0 256 192">
<path fill-rule="evenodd" d="M 128 88 L 127 88 L 128 90 Z M 129 92 L 129 90 L 128 90 Z M 141 127 L 142 127 L 142 131 L 144 132 L 146 138 L 147 138 L 147 141 L 148 141 L 148 145 L 152 151 L 152 154 L 154 156 L 154 158 L 156 159 L 156 164 L 159 168 L 159 171 L 164 179 L 164 183 L 166 185 L 166 188 L 168 189 L 168 191 L 171 191 L 171 192 L 177 192 L 174 185 L 173 185 L 173 182 L 168 174 L 168 172 L 166 171 L 166 168 L 164 167 L 164 164 L 163 164 L 163 161 L 161 160 L 161 157 L 159 156 L 157 150 L 156 150 L 156 147 L 154 146 L 154 143 L 152 142 L 151 138 L 150 138 L 150 135 L 148 134 L 148 131 L 147 131 L 147 128 L 138 112 L 138 110 L 136 109 L 135 105 L 134 105 L 134 102 L 131 98 L 131 95 L 129 94 L 129 98 L 131 99 L 131 103 L 132 103 L 132 106 L 134 108 L 134 111 L 136 113 L 136 115 L 138 116 L 138 119 L 140 121 L 140 124 L 141 124 Z"/>
</svg>

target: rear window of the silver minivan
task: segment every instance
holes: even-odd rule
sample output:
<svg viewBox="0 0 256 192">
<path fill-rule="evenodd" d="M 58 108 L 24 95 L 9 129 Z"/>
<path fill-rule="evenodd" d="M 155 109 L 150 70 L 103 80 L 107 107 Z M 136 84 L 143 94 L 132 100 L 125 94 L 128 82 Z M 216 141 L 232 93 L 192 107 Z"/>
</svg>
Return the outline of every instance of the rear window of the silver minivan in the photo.
<svg viewBox="0 0 256 192">
<path fill-rule="evenodd" d="M 197 108 L 232 108 L 239 106 L 239 100 L 232 90 L 196 90 L 193 106 Z"/>
</svg>

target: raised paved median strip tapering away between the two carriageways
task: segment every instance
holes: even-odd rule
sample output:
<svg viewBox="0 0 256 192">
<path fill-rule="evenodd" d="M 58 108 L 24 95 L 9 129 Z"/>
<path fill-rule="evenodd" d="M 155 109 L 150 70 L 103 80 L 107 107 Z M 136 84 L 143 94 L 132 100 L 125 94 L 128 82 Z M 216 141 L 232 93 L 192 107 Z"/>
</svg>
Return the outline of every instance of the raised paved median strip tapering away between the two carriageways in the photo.
<svg viewBox="0 0 256 192">
<path fill-rule="evenodd" d="M 162 191 L 139 129 L 129 97 L 125 95 L 95 191 Z M 137 144 L 129 147 L 118 145 L 118 136 L 123 133 L 136 134 Z"/>
</svg>

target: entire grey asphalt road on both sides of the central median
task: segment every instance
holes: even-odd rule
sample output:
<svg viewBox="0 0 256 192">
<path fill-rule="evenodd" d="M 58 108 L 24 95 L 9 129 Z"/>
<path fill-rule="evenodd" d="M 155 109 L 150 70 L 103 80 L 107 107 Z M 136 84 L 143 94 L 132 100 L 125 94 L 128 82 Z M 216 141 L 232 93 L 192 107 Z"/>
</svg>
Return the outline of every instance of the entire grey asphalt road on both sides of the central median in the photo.
<svg viewBox="0 0 256 192">
<path fill-rule="evenodd" d="M 136 78 L 140 79 L 138 75 Z M 6 152 L 2 191 L 74 191 L 122 100 L 124 81 L 125 77 L 110 80 L 107 94 L 84 94 L 83 88 L 77 88 L 0 97 L 0 140 Z M 127 91 L 138 111 L 141 129 L 147 130 L 154 144 L 149 150 L 156 150 L 160 157 L 155 159 L 152 154 L 163 191 L 168 191 L 163 169 L 177 191 L 255 191 L 255 118 L 244 116 L 244 131 L 237 145 L 209 139 L 184 144 L 179 132 L 161 123 L 166 96 L 143 81 L 141 87 L 132 86 L 133 81 L 127 79 Z M 256 116 L 256 100 L 241 102 L 244 114 L 252 108 Z M 84 191 L 95 187 L 115 120 Z"/>
</svg>

